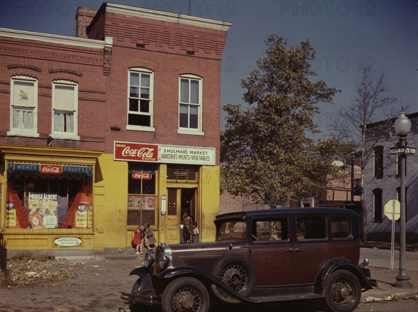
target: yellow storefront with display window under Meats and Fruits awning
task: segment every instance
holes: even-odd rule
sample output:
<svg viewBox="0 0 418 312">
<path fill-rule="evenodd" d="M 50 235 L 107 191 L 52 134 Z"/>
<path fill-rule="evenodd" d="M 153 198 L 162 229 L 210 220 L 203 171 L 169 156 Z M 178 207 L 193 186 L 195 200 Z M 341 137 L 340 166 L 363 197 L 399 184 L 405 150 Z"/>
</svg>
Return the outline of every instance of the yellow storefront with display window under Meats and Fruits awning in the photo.
<svg viewBox="0 0 418 312">
<path fill-rule="evenodd" d="M 94 249 L 98 150 L 0 146 L 1 233 L 8 250 Z"/>
</svg>

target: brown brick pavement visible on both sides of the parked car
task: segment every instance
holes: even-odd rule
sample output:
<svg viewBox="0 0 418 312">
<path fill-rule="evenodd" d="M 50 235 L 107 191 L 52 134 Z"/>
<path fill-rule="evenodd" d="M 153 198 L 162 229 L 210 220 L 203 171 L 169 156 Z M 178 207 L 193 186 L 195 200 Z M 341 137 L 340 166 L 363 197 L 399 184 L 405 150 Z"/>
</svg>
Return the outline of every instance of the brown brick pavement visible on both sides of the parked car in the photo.
<svg viewBox="0 0 418 312">
<path fill-rule="evenodd" d="M 0 312 L 115 312 L 129 308 L 121 299 L 122 291 L 130 291 L 137 276 L 129 276 L 135 267 L 144 265 L 144 256 L 134 249 L 121 255 L 100 255 L 95 258 L 57 259 L 52 270 L 65 268 L 75 274 L 67 281 L 48 281 L 37 286 L 0 289 Z M 418 295 L 418 252 L 406 253 L 408 276 L 412 288 L 394 288 L 398 274 L 398 253 L 395 269 L 390 270 L 390 250 L 361 249 L 361 260 L 368 257 L 371 276 L 379 287 L 362 294 L 362 301 L 391 300 Z"/>
</svg>

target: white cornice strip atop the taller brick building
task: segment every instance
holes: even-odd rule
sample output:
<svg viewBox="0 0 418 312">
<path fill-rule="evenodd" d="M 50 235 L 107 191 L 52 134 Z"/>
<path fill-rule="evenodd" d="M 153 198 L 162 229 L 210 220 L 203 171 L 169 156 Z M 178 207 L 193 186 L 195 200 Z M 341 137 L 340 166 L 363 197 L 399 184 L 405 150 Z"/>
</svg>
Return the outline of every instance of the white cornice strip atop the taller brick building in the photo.
<svg viewBox="0 0 418 312">
<path fill-rule="evenodd" d="M 132 17 L 148 18 L 150 20 L 160 20 L 162 22 L 172 22 L 197 27 L 214 29 L 217 31 L 228 31 L 232 26 L 230 22 L 222 22 L 217 20 L 209 20 L 202 17 L 194 17 L 189 15 L 181 15 L 169 13 L 159 10 L 150 10 L 146 8 L 137 8 L 134 6 L 124 6 L 123 4 L 106 3 L 106 12 L 122 14 Z"/>
</svg>

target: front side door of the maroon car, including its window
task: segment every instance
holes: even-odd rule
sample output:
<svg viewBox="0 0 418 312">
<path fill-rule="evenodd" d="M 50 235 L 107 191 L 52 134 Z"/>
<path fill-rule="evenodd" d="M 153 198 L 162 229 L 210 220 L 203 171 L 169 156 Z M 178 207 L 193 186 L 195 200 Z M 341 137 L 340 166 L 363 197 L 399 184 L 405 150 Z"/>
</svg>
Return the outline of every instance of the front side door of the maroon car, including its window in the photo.
<svg viewBox="0 0 418 312">
<path fill-rule="evenodd" d="M 255 286 L 284 286 L 293 282 L 288 218 L 251 220 L 249 251 L 249 260 L 256 272 Z"/>
</svg>

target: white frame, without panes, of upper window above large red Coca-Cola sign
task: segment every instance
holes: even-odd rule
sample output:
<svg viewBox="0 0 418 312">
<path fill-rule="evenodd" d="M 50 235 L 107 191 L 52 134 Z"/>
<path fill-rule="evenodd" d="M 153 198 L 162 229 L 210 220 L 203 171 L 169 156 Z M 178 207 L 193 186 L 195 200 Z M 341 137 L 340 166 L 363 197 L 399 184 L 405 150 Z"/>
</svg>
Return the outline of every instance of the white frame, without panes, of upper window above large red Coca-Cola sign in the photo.
<svg viewBox="0 0 418 312">
<path fill-rule="evenodd" d="M 131 77 L 131 72 L 136 72 L 139 74 L 139 77 L 141 77 L 141 74 L 148 74 L 150 75 L 150 97 L 149 97 L 149 112 L 146 113 L 144 111 L 139 111 L 139 112 L 135 112 L 135 111 L 130 111 L 130 106 L 129 106 L 129 101 L 130 101 L 130 77 Z M 141 78 L 140 78 L 141 79 Z M 139 98 L 141 96 L 141 80 L 139 80 Z M 128 124 L 128 120 L 129 120 L 129 115 L 130 114 L 137 114 L 137 115 L 143 115 L 143 116 L 150 116 L 150 125 L 149 126 L 144 126 L 144 125 L 129 125 Z M 154 127 L 154 72 L 151 70 L 148 70 L 146 68 L 130 68 L 127 71 L 127 109 L 126 109 L 126 130 L 137 130 L 137 131 L 146 131 L 146 132 L 155 132 L 155 127 Z"/>
</svg>

